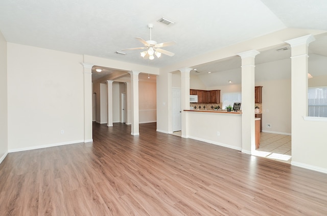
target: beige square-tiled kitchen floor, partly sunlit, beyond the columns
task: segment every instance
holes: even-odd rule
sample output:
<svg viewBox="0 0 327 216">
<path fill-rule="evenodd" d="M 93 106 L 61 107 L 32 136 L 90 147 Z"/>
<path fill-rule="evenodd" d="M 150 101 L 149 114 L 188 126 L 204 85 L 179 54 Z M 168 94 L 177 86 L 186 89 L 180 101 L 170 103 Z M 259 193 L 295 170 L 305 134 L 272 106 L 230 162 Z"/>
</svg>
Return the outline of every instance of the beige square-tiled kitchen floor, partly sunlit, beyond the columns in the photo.
<svg viewBox="0 0 327 216">
<path fill-rule="evenodd" d="M 172 134 L 181 137 L 181 131 L 176 131 Z M 291 136 L 260 132 L 260 147 L 252 154 L 291 164 Z"/>
</svg>

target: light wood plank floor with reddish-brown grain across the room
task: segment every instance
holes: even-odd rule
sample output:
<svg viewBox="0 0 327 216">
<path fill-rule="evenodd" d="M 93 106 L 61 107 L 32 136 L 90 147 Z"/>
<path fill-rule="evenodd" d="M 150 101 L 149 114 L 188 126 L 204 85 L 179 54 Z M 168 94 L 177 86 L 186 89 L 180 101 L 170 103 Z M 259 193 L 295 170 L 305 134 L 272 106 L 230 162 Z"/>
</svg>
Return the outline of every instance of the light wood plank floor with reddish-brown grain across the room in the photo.
<svg viewBox="0 0 327 216">
<path fill-rule="evenodd" d="M 156 132 L 9 153 L 0 215 L 326 215 L 327 174 Z"/>
</svg>

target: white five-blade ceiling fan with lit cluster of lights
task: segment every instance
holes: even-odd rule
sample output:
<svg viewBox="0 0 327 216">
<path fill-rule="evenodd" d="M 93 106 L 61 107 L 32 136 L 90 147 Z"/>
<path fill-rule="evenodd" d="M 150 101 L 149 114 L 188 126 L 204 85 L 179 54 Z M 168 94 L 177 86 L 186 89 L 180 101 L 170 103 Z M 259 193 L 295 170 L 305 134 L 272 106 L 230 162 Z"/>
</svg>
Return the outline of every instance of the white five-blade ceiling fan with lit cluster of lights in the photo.
<svg viewBox="0 0 327 216">
<path fill-rule="evenodd" d="M 148 28 L 150 29 L 150 40 L 144 40 L 142 38 L 136 38 L 139 42 L 144 44 L 144 47 L 135 47 L 135 48 L 127 48 L 122 50 L 134 50 L 134 49 L 148 49 L 146 51 L 141 52 L 141 56 L 144 59 L 153 60 L 155 55 L 156 57 L 160 57 L 161 53 L 167 56 L 174 56 L 175 53 L 161 49 L 160 47 L 171 46 L 176 44 L 176 41 L 169 41 L 164 43 L 157 43 L 156 41 L 152 40 L 151 38 L 151 29 L 153 28 L 153 24 L 148 24 Z"/>
</svg>

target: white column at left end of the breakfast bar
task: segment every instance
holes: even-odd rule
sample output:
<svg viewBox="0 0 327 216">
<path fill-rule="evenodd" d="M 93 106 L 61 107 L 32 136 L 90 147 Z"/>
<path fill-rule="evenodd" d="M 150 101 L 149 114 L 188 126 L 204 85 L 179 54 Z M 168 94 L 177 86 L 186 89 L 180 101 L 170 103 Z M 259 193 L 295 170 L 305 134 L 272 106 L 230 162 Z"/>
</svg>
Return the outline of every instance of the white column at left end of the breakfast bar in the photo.
<svg viewBox="0 0 327 216">
<path fill-rule="evenodd" d="M 181 73 L 181 108 L 182 108 L 182 137 L 188 138 L 189 132 L 188 132 L 188 115 L 186 112 L 183 112 L 183 110 L 189 110 L 190 109 L 190 71 L 192 68 L 181 68 L 179 69 Z"/>
</svg>

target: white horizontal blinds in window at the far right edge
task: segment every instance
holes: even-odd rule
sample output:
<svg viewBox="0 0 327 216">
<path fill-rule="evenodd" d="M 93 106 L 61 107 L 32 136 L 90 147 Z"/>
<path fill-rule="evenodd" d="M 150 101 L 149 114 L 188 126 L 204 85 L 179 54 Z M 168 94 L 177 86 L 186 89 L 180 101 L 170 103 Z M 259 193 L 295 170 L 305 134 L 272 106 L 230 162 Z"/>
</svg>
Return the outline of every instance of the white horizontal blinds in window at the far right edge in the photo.
<svg viewBox="0 0 327 216">
<path fill-rule="evenodd" d="M 327 117 L 327 87 L 308 88 L 308 116 Z"/>
</svg>

